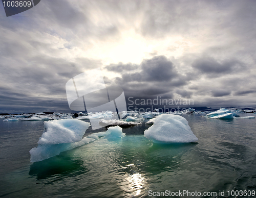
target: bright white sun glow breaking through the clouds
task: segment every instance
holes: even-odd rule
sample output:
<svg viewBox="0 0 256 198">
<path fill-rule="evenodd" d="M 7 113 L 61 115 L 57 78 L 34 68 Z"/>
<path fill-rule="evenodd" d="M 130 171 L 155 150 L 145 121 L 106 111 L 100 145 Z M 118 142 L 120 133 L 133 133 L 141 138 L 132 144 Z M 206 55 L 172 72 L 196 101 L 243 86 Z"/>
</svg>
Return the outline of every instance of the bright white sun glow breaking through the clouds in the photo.
<svg viewBox="0 0 256 198">
<path fill-rule="evenodd" d="M 109 40 L 96 42 L 92 39 L 90 43 L 90 46 L 81 48 L 81 54 L 87 58 L 101 60 L 103 65 L 119 62 L 140 64 L 143 59 L 156 55 L 177 58 L 193 46 L 181 36 L 149 39 L 142 37 L 134 29 L 120 32 L 117 37 Z"/>
</svg>

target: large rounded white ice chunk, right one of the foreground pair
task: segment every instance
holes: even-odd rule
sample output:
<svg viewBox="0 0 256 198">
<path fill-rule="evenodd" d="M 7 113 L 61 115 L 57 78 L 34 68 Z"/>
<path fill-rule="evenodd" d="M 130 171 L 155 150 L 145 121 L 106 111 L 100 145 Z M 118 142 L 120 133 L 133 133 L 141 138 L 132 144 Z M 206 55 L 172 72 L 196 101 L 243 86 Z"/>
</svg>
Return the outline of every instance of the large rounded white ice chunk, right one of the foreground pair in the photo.
<svg viewBox="0 0 256 198">
<path fill-rule="evenodd" d="M 187 120 L 179 115 L 162 114 L 155 118 L 154 125 L 144 131 L 144 136 L 156 143 L 187 143 L 198 141 L 188 126 Z"/>
</svg>

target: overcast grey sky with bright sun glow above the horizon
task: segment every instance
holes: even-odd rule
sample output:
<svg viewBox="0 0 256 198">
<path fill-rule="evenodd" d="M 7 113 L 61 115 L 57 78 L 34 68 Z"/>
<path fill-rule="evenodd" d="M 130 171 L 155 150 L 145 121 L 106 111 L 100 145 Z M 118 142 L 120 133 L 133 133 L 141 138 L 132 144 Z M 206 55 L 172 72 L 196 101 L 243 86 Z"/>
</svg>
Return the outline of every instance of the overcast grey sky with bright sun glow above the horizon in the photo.
<svg viewBox="0 0 256 198">
<path fill-rule="evenodd" d="M 41 0 L 9 17 L 0 5 L 0 113 L 69 112 L 66 83 L 98 67 L 127 108 L 256 106 L 255 46 L 255 1 Z"/>
</svg>

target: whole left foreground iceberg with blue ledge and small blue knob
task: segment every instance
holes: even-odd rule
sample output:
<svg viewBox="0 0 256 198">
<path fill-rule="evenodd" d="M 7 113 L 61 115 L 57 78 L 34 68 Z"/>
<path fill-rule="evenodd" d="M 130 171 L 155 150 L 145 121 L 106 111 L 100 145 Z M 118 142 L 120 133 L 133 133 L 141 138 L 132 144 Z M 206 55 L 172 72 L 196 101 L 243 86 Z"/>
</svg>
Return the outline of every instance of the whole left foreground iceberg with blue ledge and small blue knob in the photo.
<svg viewBox="0 0 256 198">
<path fill-rule="evenodd" d="M 56 156 L 63 151 L 90 143 L 99 137 L 107 139 L 121 138 L 125 134 L 118 126 L 110 127 L 106 132 L 99 132 L 83 137 L 90 123 L 77 119 L 45 121 L 45 131 L 39 138 L 38 146 L 30 150 L 30 161 L 38 162 Z"/>
</svg>

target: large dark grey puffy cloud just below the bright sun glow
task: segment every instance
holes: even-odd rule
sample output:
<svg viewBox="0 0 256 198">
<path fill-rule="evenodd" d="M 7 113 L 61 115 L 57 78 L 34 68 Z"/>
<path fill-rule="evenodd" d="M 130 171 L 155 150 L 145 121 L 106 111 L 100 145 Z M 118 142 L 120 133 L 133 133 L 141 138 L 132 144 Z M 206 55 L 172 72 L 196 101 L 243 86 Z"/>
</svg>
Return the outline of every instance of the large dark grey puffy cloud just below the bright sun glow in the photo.
<svg viewBox="0 0 256 198">
<path fill-rule="evenodd" d="M 127 68 L 127 65 L 121 63 L 117 65 L 108 66 L 108 69 L 114 71 L 124 71 L 122 66 Z M 128 64 L 130 65 L 130 64 Z M 141 64 L 134 65 L 134 70 L 126 71 L 121 77 L 116 77 L 114 81 L 110 81 L 107 77 L 106 81 L 110 85 L 120 86 L 124 90 L 127 98 L 151 98 L 152 100 L 157 96 L 162 98 L 173 98 L 173 90 L 177 87 L 179 94 L 184 97 L 189 97 L 191 92 L 182 90 L 182 86 L 189 82 L 190 77 L 181 75 L 177 68 L 175 68 L 172 61 L 165 56 L 155 56 L 152 59 L 144 59 Z"/>
</svg>

